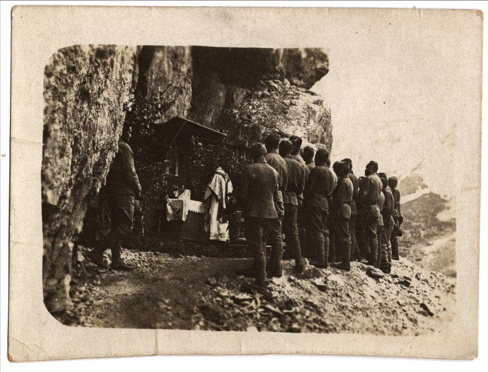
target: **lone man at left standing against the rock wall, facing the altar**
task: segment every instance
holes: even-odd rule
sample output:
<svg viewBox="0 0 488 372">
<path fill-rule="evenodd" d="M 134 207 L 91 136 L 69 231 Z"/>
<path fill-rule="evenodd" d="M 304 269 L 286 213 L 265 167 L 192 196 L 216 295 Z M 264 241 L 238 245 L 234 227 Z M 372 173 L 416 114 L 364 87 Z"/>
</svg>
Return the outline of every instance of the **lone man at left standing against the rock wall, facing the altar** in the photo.
<svg viewBox="0 0 488 372">
<path fill-rule="evenodd" d="M 124 271 L 134 268 L 121 259 L 121 240 L 123 236 L 132 231 L 134 200 L 141 195 L 141 184 L 134 168 L 134 155 L 127 144 L 131 132 L 130 126 L 124 126 L 118 142 L 119 152 L 115 154 L 114 161 L 110 165 L 103 188 L 110 210 L 110 233 L 88 254 L 90 260 L 98 266 L 108 268 L 103 261 L 103 252 L 107 248 L 111 248 L 112 264 L 110 267 Z"/>
</svg>

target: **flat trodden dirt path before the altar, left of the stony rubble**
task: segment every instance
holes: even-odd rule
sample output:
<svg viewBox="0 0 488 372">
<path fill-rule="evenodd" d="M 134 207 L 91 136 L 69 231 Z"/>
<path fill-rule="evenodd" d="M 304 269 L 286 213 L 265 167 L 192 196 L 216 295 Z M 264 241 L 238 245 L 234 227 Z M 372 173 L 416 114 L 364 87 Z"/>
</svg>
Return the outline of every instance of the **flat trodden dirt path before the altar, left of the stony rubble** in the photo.
<svg viewBox="0 0 488 372">
<path fill-rule="evenodd" d="M 80 323 L 84 326 L 192 329 L 194 308 L 202 295 L 209 292 L 206 278 L 231 277 L 246 261 L 174 258 L 167 254 L 127 250 L 125 256 L 130 256 L 127 262 L 139 263 L 139 268 L 117 272 L 85 263 L 88 275 L 77 285 L 81 293 L 75 292 L 82 299 L 85 294 L 93 301 L 84 302 L 85 311 L 81 307 L 84 317 Z"/>
</svg>

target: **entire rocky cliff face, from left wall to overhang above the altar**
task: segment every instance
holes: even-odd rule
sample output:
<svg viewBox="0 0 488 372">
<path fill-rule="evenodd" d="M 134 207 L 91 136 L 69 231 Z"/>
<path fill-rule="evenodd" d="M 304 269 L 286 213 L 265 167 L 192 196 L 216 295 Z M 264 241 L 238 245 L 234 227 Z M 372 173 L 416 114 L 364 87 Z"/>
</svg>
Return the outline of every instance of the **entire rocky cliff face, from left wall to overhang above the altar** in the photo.
<svg viewBox="0 0 488 372">
<path fill-rule="evenodd" d="M 263 141 L 278 132 L 330 151 L 330 110 L 308 90 L 327 71 L 326 54 L 314 48 L 77 45 L 56 52 L 44 73 L 47 308 L 71 305 L 73 241 L 87 203 L 104 183 L 124 121 L 133 126 L 141 173 L 144 162 L 154 165 L 151 146 L 160 146 L 151 142 L 151 126 L 176 115 L 227 132 L 230 141 Z M 153 186 L 148 181 L 143 190 Z"/>
</svg>

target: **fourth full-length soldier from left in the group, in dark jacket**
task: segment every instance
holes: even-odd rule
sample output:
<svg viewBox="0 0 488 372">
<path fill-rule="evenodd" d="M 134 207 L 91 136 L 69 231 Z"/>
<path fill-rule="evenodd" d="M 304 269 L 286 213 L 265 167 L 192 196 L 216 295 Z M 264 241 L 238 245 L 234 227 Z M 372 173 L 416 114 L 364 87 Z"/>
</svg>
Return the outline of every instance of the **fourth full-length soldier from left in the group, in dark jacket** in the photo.
<svg viewBox="0 0 488 372">
<path fill-rule="evenodd" d="M 328 153 L 319 150 L 315 154 L 315 168 L 305 185 L 304 202 L 307 211 L 308 232 L 312 235 L 317 267 L 326 268 L 329 254 L 329 230 L 327 228 L 327 197 L 335 188 L 332 172 L 326 166 Z"/>
</svg>

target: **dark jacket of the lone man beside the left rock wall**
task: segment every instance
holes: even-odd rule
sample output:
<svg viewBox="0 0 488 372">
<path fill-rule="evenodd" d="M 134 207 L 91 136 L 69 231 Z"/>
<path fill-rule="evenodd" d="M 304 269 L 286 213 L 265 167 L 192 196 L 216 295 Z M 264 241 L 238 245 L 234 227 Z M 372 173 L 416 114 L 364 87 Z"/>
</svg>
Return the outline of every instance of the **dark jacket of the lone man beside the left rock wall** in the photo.
<svg viewBox="0 0 488 372">
<path fill-rule="evenodd" d="M 132 149 L 121 139 L 119 152 L 115 154 L 110 165 L 104 190 L 110 193 L 135 195 L 141 192 L 139 177 L 134 168 L 134 155 Z"/>
</svg>

